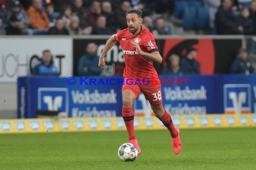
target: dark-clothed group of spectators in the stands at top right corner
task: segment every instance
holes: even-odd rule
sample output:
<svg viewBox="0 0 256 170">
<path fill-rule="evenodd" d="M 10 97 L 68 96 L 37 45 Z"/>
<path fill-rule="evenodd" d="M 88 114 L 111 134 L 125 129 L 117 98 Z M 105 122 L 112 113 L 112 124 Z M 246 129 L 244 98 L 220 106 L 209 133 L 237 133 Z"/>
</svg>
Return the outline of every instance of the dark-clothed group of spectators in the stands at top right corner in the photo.
<svg viewBox="0 0 256 170">
<path fill-rule="evenodd" d="M 247 2 L 246 5 L 244 2 Z M 217 34 L 256 35 L 256 0 L 221 0 L 212 15 L 212 21 L 216 21 Z"/>
</svg>

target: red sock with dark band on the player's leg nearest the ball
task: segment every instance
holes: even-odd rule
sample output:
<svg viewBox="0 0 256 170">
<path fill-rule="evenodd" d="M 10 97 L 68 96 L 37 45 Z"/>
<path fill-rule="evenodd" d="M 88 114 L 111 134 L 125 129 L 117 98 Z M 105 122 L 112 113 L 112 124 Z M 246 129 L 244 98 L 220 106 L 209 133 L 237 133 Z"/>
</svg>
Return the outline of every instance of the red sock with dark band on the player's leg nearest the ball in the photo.
<svg viewBox="0 0 256 170">
<path fill-rule="evenodd" d="M 129 140 L 136 139 L 135 134 L 134 134 L 134 124 L 133 124 L 134 116 L 133 116 L 132 107 L 130 107 L 130 108 L 123 107 L 122 108 L 122 116 L 123 116 L 124 123 L 125 123 L 126 129 L 127 129 L 128 135 L 129 135 Z"/>
</svg>

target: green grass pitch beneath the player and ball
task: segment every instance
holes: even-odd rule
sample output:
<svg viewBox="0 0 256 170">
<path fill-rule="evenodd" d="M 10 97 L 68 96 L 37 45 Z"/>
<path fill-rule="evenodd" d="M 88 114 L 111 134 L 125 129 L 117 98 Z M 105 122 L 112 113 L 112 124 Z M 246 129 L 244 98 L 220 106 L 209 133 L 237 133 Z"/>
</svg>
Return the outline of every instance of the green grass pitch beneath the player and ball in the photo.
<svg viewBox="0 0 256 170">
<path fill-rule="evenodd" d="M 172 152 L 167 130 L 136 131 L 141 155 L 122 162 L 127 132 L 0 135 L 0 170 L 256 170 L 256 128 L 181 130 Z"/>
</svg>

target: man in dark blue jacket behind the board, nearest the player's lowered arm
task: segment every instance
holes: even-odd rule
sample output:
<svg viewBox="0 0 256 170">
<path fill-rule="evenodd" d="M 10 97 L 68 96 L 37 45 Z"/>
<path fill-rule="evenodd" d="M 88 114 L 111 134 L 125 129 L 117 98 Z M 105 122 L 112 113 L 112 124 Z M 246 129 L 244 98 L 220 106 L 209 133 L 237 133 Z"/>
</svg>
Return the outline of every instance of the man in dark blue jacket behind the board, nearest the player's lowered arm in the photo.
<svg viewBox="0 0 256 170">
<path fill-rule="evenodd" d="M 95 43 L 88 43 L 86 51 L 87 54 L 79 58 L 79 76 L 100 76 L 102 74 L 102 68 L 98 67 L 99 56 L 96 54 L 97 45 Z"/>
</svg>

